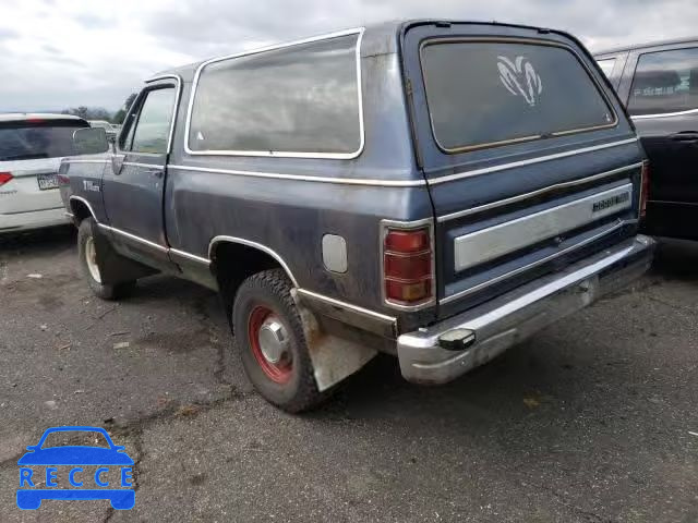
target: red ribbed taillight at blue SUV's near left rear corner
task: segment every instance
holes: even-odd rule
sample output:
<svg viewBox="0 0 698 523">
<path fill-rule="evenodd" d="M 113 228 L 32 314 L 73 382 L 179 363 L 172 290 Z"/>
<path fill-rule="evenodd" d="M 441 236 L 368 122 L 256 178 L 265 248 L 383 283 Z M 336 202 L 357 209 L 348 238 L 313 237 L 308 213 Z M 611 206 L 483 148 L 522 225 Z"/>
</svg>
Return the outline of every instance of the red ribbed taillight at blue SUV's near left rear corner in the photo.
<svg viewBox="0 0 698 523">
<path fill-rule="evenodd" d="M 434 295 L 434 253 L 431 229 L 387 228 L 383 239 L 385 299 L 400 306 L 416 306 Z"/>
</svg>

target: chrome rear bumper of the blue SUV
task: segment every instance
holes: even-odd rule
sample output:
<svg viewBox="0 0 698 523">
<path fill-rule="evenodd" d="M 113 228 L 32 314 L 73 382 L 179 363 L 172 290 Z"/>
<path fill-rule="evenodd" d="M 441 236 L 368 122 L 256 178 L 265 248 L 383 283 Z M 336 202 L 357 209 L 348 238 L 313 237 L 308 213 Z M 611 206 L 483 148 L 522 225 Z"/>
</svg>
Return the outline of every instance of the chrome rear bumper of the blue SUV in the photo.
<svg viewBox="0 0 698 523">
<path fill-rule="evenodd" d="M 627 285 L 649 268 L 653 251 L 654 241 L 638 235 L 453 318 L 400 336 L 402 376 L 426 385 L 450 381 Z"/>
</svg>

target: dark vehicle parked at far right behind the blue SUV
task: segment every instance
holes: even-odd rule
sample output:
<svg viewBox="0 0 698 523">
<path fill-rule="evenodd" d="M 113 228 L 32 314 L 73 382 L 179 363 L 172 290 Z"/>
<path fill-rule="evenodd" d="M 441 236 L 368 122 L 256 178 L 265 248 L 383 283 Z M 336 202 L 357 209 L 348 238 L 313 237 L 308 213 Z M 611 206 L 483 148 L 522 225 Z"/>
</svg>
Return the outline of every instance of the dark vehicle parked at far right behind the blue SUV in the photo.
<svg viewBox="0 0 698 523">
<path fill-rule="evenodd" d="M 698 38 L 595 56 L 650 159 L 649 234 L 698 240 Z"/>
</svg>

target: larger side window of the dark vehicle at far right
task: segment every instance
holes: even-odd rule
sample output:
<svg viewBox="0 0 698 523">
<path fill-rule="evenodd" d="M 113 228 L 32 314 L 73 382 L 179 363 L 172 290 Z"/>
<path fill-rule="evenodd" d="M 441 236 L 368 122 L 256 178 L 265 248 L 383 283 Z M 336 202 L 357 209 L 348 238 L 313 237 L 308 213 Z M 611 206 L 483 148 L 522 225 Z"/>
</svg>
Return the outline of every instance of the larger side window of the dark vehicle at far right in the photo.
<svg viewBox="0 0 698 523">
<path fill-rule="evenodd" d="M 698 47 L 640 54 L 630 88 L 633 115 L 698 109 Z"/>
</svg>

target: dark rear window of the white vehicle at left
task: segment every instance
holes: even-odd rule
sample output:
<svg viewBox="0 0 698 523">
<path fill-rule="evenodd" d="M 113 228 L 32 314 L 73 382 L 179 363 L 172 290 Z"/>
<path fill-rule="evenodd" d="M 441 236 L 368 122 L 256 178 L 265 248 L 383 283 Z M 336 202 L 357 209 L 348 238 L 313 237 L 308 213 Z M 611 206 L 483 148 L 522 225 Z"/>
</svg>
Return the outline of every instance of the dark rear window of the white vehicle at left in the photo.
<svg viewBox="0 0 698 523">
<path fill-rule="evenodd" d="M 17 122 L 0 126 L 0 161 L 73 155 L 73 133 L 84 124 L 36 125 Z"/>
</svg>

